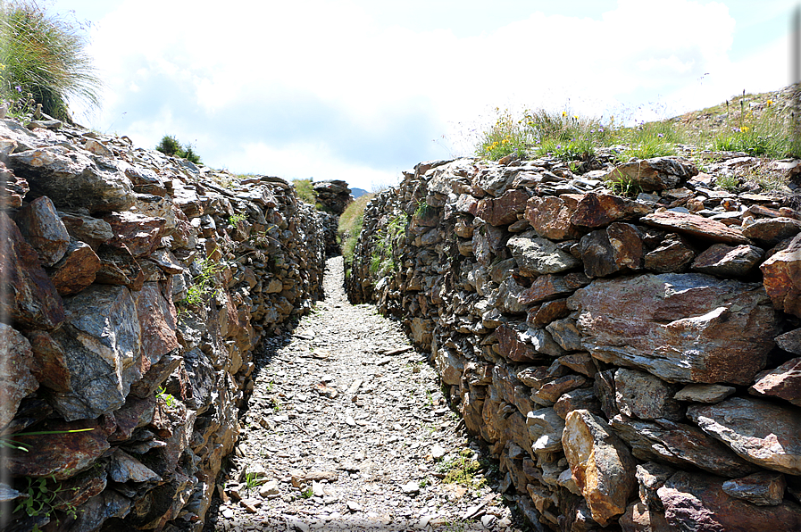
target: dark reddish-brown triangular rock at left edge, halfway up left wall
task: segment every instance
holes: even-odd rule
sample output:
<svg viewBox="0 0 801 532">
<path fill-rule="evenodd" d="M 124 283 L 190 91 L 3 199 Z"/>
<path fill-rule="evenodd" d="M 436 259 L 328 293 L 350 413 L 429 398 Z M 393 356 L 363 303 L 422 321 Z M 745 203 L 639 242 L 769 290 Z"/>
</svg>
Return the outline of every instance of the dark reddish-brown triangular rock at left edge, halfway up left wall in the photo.
<svg viewBox="0 0 801 532">
<path fill-rule="evenodd" d="M 55 328 L 64 320 L 62 298 L 42 269 L 36 251 L 20 229 L 0 212 L 0 315 L 11 316 L 21 328 Z"/>
</svg>

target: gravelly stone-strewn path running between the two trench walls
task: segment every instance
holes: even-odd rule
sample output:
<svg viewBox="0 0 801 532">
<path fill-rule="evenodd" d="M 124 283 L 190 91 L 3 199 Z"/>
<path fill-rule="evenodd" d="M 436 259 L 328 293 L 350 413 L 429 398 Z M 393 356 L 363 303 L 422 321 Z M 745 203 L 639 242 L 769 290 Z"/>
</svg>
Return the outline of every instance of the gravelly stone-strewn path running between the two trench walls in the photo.
<svg viewBox="0 0 801 532">
<path fill-rule="evenodd" d="M 342 268 L 330 258 L 325 300 L 264 346 L 205 529 L 526 529 L 425 355 L 399 323 L 348 303 Z"/>
</svg>

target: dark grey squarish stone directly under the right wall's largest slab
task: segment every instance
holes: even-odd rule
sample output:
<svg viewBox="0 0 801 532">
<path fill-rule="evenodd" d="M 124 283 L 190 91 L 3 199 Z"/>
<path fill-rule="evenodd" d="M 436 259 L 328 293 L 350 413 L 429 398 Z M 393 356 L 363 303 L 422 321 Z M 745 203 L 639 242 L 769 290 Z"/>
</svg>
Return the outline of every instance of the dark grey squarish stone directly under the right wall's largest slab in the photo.
<svg viewBox="0 0 801 532">
<path fill-rule="evenodd" d="M 630 418 L 682 420 L 684 411 L 673 399 L 678 389 L 678 385 L 668 384 L 644 371 L 618 368 L 614 373 L 617 407 Z"/>
</svg>

